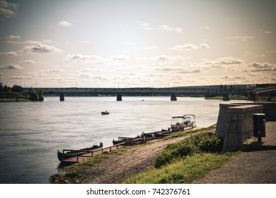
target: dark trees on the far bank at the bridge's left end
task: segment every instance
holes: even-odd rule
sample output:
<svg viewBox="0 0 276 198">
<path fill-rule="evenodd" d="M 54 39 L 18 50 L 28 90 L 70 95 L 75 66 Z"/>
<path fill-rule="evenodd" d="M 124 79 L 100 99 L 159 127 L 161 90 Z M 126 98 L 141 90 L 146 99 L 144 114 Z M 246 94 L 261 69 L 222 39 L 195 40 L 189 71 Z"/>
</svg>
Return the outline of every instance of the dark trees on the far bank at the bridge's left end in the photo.
<svg viewBox="0 0 276 198">
<path fill-rule="evenodd" d="M 12 88 L 4 85 L 0 82 L 0 98 L 1 101 L 22 101 L 22 100 L 32 100 L 32 101 L 43 101 L 44 96 L 41 90 L 34 91 L 30 88 L 28 92 L 23 91 L 22 86 L 14 85 Z M 4 100 L 8 99 L 8 100 Z"/>
</svg>

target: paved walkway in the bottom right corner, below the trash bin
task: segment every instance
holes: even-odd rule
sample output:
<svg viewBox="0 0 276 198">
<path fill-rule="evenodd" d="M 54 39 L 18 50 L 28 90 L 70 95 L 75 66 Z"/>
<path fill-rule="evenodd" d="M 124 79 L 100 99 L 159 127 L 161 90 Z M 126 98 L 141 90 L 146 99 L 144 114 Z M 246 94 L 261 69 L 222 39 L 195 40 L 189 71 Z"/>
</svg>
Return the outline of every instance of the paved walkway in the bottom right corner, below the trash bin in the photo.
<svg viewBox="0 0 276 198">
<path fill-rule="evenodd" d="M 253 143 L 222 168 L 211 170 L 194 183 L 276 184 L 276 122 L 266 122 L 263 144 Z"/>
</svg>

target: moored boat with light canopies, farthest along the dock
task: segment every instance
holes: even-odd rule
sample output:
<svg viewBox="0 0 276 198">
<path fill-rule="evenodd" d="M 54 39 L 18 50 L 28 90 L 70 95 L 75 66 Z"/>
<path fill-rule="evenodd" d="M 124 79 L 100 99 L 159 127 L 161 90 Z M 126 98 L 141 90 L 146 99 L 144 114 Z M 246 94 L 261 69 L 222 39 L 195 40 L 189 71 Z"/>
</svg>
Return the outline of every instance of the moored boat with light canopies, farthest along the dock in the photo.
<svg viewBox="0 0 276 198">
<path fill-rule="evenodd" d="M 173 132 L 181 132 L 195 127 L 195 115 L 183 115 L 171 118 L 171 130 Z"/>
</svg>

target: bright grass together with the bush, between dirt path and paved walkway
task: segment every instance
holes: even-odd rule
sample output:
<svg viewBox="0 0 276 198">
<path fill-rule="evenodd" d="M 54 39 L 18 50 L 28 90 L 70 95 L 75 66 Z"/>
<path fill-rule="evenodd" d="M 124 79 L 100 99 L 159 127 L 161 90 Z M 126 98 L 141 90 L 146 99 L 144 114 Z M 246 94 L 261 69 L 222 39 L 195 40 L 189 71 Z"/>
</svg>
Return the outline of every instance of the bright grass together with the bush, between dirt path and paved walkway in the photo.
<svg viewBox="0 0 276 198">
<path fill-rule="evenodd" d="M 155 167 L 129 177 L 123 183 L 190 183 L 209 170 L 222 167 L 233 154 L 238 153 L 220 153 L 222 144 L 223 139 L 212 133 L 197 134 L 169 144 L 157 156 Z"/>
</svg>

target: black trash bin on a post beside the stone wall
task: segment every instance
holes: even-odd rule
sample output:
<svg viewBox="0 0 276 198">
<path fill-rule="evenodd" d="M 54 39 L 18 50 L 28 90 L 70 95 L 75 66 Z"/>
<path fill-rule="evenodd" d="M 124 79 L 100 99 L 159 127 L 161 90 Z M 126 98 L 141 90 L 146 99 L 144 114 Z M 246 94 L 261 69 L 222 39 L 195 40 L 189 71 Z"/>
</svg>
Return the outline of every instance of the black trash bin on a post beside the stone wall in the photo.
<svg viewBox="0 0 276 198">
<path fill-rule="evenodd" d="M 253 114 L 253 136 L 265 137 L 265 114 Z"/>
</svg>

